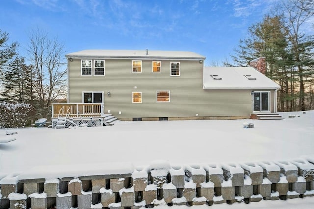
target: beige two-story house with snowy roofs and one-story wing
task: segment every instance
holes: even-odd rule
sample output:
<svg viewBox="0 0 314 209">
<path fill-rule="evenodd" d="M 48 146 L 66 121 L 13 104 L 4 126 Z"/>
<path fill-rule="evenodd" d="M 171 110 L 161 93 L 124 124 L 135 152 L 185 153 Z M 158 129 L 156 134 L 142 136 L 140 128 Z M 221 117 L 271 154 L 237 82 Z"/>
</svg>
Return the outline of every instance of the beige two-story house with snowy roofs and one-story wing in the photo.
<svg viewBox="0 0 314 209">
<path fill-rule="evenodd" d="M 83 105 L 73 115 L 179 120 L 276 112 L 275 82 L 251 67 L 204 67 L 205 57 L 194 52 L 83 50 L 66 57 L 68 103 Z"/>
</svg>

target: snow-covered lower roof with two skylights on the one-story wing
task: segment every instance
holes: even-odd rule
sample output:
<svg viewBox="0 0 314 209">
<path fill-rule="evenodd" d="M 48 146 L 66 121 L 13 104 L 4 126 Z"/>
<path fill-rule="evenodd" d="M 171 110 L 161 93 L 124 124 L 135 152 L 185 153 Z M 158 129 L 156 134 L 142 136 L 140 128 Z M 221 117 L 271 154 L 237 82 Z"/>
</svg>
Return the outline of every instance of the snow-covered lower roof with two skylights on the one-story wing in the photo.
<svg viewBox="0 0 314 209">
<path fill-rule="evenodd" d="M 204 67 L 204 89 L 279 89 L 280 86 L 252 67 Z"/>
</svg>

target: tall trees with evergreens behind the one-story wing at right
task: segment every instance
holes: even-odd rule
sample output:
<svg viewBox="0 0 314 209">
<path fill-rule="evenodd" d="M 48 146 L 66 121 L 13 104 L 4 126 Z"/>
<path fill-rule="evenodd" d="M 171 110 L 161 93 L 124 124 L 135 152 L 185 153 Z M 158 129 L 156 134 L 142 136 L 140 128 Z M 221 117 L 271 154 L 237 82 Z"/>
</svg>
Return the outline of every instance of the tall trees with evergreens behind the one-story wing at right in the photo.
<svg viewBox="0 0 314 209">
<path fill-rule="evenodd" d="M 278 111 L 314 109 L 314 0 L 285 0 L 261 22 L 248 28 L 240 40 L 233 64 L 249 66 L 251 60 L 265 57 L 266 76 L 277 82 Z"/>
</svg>

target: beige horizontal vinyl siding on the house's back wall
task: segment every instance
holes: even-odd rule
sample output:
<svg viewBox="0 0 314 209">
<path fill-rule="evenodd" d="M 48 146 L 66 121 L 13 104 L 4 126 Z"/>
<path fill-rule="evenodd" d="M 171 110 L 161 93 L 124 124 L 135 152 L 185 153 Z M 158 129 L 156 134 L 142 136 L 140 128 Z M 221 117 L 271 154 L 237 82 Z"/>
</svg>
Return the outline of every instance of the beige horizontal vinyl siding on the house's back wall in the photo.
<svg viewBox="0 0 314 209">
<path fill-rule="evenodd" d="M 110 110 L 118 118 L 249 116 L 252 113 L 251 90 L 204 90 L 203 64 L 198 60 L 160 61 L 158 73 L 152 72 L 152 60 L 142 60 L 142 73 L 132 73 L 132 59 L 111 59 L 105 60 L 105 76 L 81 76 L 80 59 L 73 59 L 69 62 L 69 102 L 81 103 L 83 91 L 101 91 L 105 113 Z M 170 62 L 177 61 L 180 76 L 171 76 Z M 170 102 L 157 103 L 157 91 L 170 91 Z M 132 103 L 132 92 L 142 92 L 142 103 Z"/>
</svg>

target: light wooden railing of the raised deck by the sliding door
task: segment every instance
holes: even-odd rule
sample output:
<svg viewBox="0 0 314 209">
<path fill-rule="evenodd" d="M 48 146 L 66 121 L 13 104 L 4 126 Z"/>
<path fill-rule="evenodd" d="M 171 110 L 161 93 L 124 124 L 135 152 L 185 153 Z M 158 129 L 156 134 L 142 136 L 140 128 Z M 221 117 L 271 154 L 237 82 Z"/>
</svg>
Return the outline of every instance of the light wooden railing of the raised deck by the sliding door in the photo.
<svg viewBox="0 0 314 209">
<path fill-rule="evenodd" d="M 97 117 L 104 113 L 103 103 L 52 103 L 52 118 L 57 118 L 59 114 L 69 117 Z"/>
</svg>

